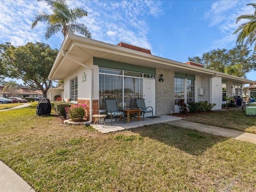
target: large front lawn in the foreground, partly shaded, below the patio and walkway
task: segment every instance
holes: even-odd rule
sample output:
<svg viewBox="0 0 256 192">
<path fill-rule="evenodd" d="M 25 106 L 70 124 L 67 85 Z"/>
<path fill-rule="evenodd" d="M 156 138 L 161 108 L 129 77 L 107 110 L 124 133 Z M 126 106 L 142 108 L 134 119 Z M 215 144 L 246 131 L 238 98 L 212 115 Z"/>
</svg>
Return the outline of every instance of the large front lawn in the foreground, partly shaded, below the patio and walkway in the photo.
<svg viewBox="0 0 256 192">
<path fill-rule="evenodd" d="M 101 134 L 35 111 L 1 113 L 0 160 L 36 191 L 256 191 L 255 144 L 168 124 Z"/>
</svg>

